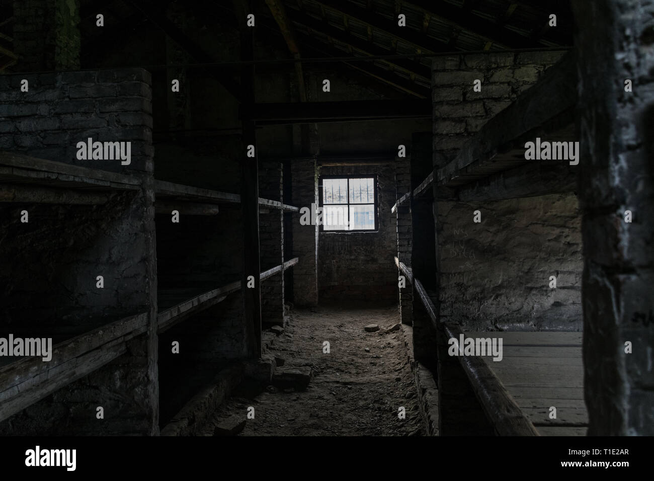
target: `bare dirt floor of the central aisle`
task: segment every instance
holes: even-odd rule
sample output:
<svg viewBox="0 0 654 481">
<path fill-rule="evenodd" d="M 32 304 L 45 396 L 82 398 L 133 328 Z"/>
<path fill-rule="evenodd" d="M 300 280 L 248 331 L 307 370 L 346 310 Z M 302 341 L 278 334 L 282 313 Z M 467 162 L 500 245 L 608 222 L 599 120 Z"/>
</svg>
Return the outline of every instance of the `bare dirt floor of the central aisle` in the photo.
<svg viewBox="0 0 654 481">
<path fill-rule="evenodd" d="M 388 308 L 318 307 L 292 310 L 291 320 L 269 351 L 284 368 L 310 366 L 306 391 L 270 385 L 254 399 L 233 397 L 207 425 L 247 414 L 242 436 L 407 436 L 422 435 L 422 419 L 397 306 Z M 369 324 L 378 332 L 365 332 Z M 323 352 L 323 342 L 330 352 Z M 366 351 L 370 349 L 370 352 Z M 405 419 L 398 408 L 405 408 Z"/>
</svg>

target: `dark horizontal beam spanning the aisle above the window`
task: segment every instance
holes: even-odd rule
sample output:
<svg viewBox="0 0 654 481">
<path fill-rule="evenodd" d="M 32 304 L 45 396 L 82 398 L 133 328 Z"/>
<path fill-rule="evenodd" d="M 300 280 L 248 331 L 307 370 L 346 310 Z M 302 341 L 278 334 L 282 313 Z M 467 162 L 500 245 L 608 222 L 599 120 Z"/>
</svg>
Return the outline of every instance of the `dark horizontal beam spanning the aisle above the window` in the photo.
<svg viewBox="0 0 654 481">
<path fill-rule="evenodd" d="M 258 124 L 298 124 L 345 120 L 414 120 L 431 118 L 428 100 L 354 100 L 306 103 L 256 103 Z"/>
</svg>

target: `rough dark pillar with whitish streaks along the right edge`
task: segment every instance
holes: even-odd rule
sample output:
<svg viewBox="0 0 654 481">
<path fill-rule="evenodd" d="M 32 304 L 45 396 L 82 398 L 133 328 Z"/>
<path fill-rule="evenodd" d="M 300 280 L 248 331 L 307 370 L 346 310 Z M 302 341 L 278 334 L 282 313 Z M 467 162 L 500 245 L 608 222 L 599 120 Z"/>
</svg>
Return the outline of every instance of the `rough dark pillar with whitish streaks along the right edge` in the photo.
<svg viewBox="0 0 654 481">
<path fill-rule="evenodd" d="M 654 435 L 654 4 L 572 3 L 578 26 L 589 435 Z M 638 12 L 638 14 L 636 14 Z M 597 33 L 602 32 L 602 41 Z M 632 92 L 625 92 L 625 80 Z M 625 222 L 625 211 L 632 223 Z M 625 342 L 632 353 L 625 353 Z"/>
</svg>

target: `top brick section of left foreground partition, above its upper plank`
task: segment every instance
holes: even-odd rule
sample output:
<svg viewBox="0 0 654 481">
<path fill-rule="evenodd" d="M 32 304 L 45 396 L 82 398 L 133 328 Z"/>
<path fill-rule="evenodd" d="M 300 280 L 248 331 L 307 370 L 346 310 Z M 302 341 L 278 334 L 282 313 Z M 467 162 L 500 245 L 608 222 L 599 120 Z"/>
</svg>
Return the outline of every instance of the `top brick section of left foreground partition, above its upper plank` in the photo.
<svg viewBox="0 0 654 481">
<path fill-rule="evenodd" d="M 29 92 L 20 92 L 22 79 Z M 152 171 L 150 84 L 143 69 L 0 75 L 0 150 L 114 172 Z M 88 137 L 131 141 L 131 164 L 78 160 L 77 143 Z"/>
</svg>

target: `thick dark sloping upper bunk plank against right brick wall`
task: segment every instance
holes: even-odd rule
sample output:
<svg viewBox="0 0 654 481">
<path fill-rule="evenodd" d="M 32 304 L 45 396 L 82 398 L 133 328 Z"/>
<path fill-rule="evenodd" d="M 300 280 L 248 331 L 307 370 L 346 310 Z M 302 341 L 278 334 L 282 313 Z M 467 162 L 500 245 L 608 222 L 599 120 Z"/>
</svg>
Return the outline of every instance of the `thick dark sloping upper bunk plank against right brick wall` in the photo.
<svg viewBox="0 0 654 481">
<path fill-rule="evenodd" d="M 526 90 L 509 107 L 490 119 L 477 134 L 466 140 L 458 155 L 437 171 L 439 185 L 449 185 L 473 162 L 491 160 L 497 152 L 507 151 L 514 139 L 536 130 L 557 115 L 566 115 L 576 105 L 574 58 L 568 53 L 545 72 L 534 86 Z M 523 161 L 524 163 L 524 161 Z"/>
</svg>

